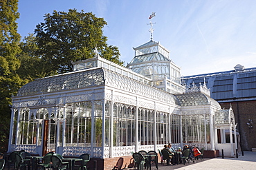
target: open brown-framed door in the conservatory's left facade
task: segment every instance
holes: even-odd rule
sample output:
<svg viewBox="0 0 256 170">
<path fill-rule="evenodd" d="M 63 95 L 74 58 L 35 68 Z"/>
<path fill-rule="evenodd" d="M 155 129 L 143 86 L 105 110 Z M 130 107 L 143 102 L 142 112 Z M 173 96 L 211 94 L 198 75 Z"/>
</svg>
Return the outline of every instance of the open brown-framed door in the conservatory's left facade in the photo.
<svg viewBox="0 0 256 170">
<path fill-rule="evenodd" d="M 57 135 L 57 125 L 55 120 L 44 120 L 44 137 L 43 137 L 43 153 L 45 156 L 46 153 L 56 150 L 56 135 Z"/>
</svg>

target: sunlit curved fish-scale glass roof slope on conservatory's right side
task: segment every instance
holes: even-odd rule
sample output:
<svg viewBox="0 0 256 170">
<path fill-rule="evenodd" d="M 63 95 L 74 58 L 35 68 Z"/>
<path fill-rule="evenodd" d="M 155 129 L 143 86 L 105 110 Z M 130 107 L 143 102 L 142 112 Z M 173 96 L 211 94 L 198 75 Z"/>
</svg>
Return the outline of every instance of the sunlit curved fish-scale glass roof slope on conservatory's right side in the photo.
<svg viewBox="0 0 256 170">
<path fill-rule="evenodd" d="M 135 81 L 134 79 L 127 76 L 122 76 L 116 72 L 112 72 L 106 69 L 103 70 L 105 72 L 106 85 L 116 87 L 117 89 L 122 89 L 134 94 L 139 94 L 141 96 L 146 96 L 148 98 L 153 98 L 166 103 L 178 105 L 178 100 L 172 94 L 164 92 L 161 89 L 157 89 L 156 87 L 140 83 L 139 81 Z"/>
</svg>

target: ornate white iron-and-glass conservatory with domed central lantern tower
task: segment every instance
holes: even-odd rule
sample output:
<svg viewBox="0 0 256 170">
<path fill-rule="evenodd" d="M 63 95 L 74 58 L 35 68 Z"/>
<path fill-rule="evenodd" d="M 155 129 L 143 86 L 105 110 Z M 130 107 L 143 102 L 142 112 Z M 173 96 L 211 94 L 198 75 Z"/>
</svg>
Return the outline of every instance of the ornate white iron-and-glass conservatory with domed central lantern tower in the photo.
<svg viewBox="0 0 256 170">
<path fill-rule="evenodd" d="M 104 160 L 169 142 L 221 149 L 216 129 L 222 117 L 215 115 L 222 109 L 205 85 L 181 85 L 179 67 L 158 43 L 135 50 L 128 68 L 96 54 L 73 63 L 73 72 L 21 87 L 12 97 L 8 151 L 89 153 Z M 228 122 L 233 130 L 234 123 Z"/>
</svg>

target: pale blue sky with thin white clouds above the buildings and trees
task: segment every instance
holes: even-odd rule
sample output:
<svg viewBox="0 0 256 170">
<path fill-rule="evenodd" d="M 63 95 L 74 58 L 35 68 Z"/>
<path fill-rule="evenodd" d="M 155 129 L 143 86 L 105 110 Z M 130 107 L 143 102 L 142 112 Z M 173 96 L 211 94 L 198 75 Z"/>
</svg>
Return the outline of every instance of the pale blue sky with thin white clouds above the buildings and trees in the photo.
<svg viewBox="0 0 256 170">
<path fill-rule="evenodd" d="M 44 14 L 74 8 L 107 21 L 104 36 L 125 63 L 134 57 L 132 47 L 150 41 L 147 23 L 156 12 L 153 39 L 170 50 L 182 76 L 256 67 L 254 0 L 20 0 L 18 32 L 24 38 Z"/>
</svg>

